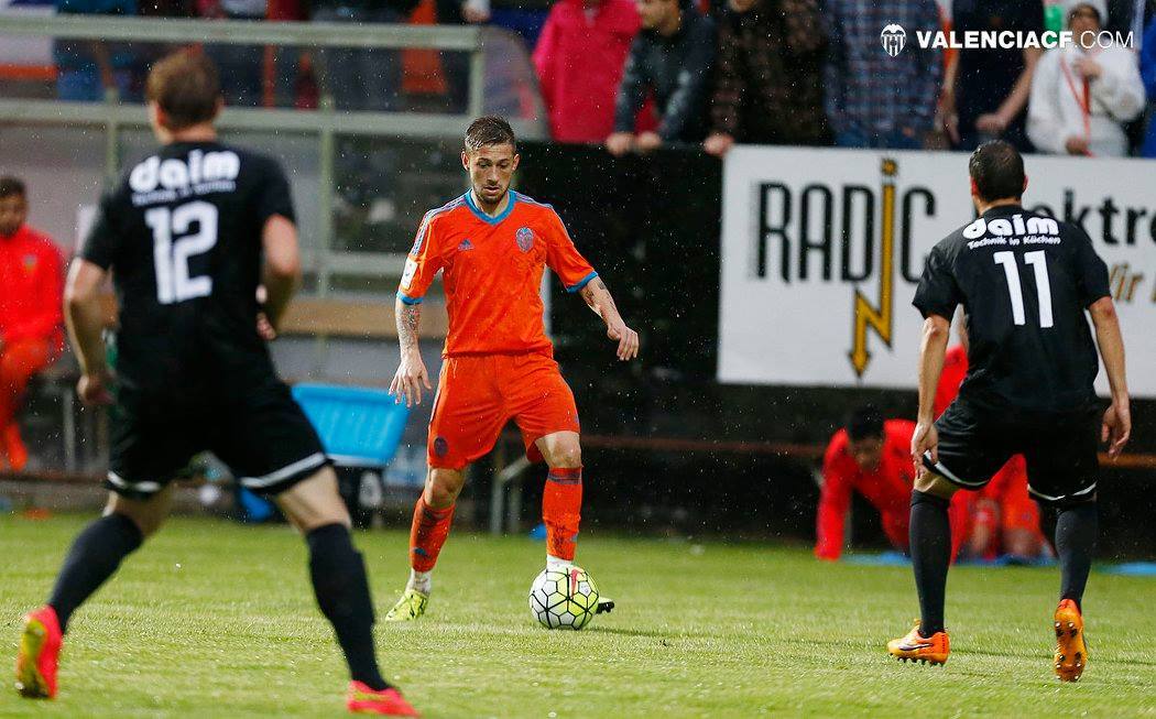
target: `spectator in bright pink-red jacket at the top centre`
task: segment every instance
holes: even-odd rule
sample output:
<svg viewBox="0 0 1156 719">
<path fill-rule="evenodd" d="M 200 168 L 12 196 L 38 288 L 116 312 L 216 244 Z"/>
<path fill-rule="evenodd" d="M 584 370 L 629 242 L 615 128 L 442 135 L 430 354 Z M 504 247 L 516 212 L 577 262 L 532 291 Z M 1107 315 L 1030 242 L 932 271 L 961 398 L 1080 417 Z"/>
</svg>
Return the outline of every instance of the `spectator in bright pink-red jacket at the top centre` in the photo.
<svg viewBox="0 0 1156 719">
<path fill-rule="evenodd" d="M 534 49 L 534 67 L 558 142 L 599 142 L 614 131 L 614 101 L 638 34 L 631 0 L 558 0 Z"/>
</svg>

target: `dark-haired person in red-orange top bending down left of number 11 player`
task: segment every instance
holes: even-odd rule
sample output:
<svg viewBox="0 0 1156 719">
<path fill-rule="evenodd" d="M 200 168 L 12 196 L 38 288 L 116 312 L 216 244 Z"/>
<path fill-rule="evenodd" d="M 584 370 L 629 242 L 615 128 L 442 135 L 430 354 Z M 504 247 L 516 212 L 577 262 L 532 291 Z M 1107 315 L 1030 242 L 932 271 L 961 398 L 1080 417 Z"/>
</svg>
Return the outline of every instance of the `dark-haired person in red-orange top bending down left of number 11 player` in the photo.
<svg viewBox="0 0 1156 719">
<path fill-rule="evenodd" d="M 907 553 L 907 526 L 914 466 L 911 435 L 914 422 L 883 420 L 870 405 L 851 413 L 835 432 L 823 455 L 823 490 L 818 499 L 815 556 L 836 561 L 843 554 L 844 524 L 851 495 L 861 494 L 879 510 L 883 533 L 897 550 Z M 966 506 L 953 507 L 953 549 L 966 531 Z"/>
</svg>

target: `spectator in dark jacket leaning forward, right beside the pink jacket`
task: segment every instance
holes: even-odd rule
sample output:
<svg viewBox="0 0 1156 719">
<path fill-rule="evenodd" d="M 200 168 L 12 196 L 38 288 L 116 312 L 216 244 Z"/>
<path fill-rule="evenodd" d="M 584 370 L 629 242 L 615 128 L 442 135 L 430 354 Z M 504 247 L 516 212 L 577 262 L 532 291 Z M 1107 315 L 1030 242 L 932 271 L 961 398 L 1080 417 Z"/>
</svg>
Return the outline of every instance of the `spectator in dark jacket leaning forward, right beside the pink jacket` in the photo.
<svg viewBox="0 0 1156 719">
<path fill-rule="evenodd" d="M 683 0 L 637 0 L 642 31 L 614 104 L 612 155 L 647 153 L 666 142 L 702 142 L 706 136 L 707 82 L 714 64 L 714 22 Z M 635 136 L 635 119 L 653 95 L 659 112 L 655 132 Z"/>
</svg>

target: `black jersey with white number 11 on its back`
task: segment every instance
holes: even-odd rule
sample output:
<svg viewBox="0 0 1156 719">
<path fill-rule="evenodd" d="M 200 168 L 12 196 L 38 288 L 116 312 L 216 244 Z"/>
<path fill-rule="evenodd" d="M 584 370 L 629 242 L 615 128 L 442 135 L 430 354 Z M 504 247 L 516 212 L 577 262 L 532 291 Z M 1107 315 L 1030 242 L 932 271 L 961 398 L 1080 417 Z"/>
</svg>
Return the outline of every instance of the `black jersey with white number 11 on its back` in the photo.
<svg viewBox="0 0 1156 719">
<path fill-rule="evenodd" d="M 1081 412 L 1099 370 L 1085 310 L 1107 268 L 1077 225 L 994 207 L 932 250 L 916 291 L 924 317 L 968 316 L 961 401 L 996 412 Z"/>
</svg>

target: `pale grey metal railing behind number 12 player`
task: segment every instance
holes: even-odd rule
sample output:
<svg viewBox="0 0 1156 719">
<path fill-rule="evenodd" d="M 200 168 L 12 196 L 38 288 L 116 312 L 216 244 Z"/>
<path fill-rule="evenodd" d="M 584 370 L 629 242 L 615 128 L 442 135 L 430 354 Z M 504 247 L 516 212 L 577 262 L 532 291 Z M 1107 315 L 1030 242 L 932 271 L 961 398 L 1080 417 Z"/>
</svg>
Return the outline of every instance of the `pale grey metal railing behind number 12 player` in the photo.
<svg viewBox="0 0 1156 719">
<path fill-rule="evenodd" d="M 304 49 L 425 49 L 468 52 L 468 86 L 465 114 L 431 112 L 368 112 L 339 110 L 326 87 L 319 83 L 318 110 L 227 108 L 217 126 L 224 131 L 275 132 L 311 135 L 318 143 L 317 217 L 312 247 L 305 253 L 306 268 L 317 277 L 317 294 L 329 291 L 334 274 L 398 275 L 405 261 L 401 253 L 334 251 L 333 208 L 335 195 L 335 150 L 338 136 L 388 136 L 399 139 L 446 140 L 461 136 L 466 124 L 486 111 L 486 79 L 489 44 L 509 45 L 511 34 L 495 28 L 370 24 L 333 22 L 249 22 L 243 20 L 186 20 L 57 15 L 50 17 L 0 15 L 0 37 L 22 36 L 94 42 L 288 45 Z M 524 54 L 524 53 L 523 53 Z M 532 94 L 532 119 L 511 118 L 516 132 L 527 139 L 546 136 L 544 112 L 536 87 Z M 119 175 L 123 135 L 148 126 L 147 113 L 139 104 L 120 102 L 110 92 L 105 102 L 64 102 L 54 99 L 0 98 L 0 125 L 36 127 L 99 127 L 104 133 L 104 169 L 109 178 Z"/>
</svg>

